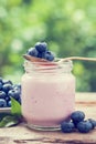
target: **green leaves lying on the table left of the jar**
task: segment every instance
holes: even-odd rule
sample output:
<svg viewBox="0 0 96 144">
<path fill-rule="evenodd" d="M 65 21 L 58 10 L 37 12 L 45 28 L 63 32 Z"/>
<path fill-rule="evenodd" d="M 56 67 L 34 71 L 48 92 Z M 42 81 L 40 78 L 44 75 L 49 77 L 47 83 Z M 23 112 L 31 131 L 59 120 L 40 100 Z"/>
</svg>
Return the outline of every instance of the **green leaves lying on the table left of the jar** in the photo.
<svg viewBox="0 0 96 144">
<path fill-rule="evenodd" d="M 11 104 L 10 112 L 0 113 L 0 127 L 11 127 L 24 121 L 20 103 L 12 97 Z"/>
</svg>

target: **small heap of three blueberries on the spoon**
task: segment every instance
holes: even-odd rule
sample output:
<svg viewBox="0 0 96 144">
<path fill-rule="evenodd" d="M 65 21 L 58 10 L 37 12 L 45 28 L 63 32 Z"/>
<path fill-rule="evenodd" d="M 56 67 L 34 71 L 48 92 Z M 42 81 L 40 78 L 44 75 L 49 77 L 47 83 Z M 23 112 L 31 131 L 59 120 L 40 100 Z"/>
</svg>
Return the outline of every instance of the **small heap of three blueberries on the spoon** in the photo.
<svg viewBox="0 0 96 144">
<path fill-rule="evenodd" d="M 36 56 L 41 59 L 45 59 L 47 61 L 54 60 L 54 54 L 47 50 L 46 42 L 36 42 L 34 48 L 30 48 L 28 53 L 31 56 Z"/>
</svg>

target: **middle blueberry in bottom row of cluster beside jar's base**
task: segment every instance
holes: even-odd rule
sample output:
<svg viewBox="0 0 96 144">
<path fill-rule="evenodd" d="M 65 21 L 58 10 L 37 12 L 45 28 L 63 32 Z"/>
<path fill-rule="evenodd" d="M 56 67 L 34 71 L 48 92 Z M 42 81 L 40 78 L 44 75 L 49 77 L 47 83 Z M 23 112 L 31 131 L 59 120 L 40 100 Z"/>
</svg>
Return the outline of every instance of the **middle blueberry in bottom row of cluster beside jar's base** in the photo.
<svg viewBox="0 0 96 144">
<path fill-rule="evenodd" d="M 89 121 L 82 121 L 77 123 L 76 127 L 81 133 L 88 133 L 93 128 L 93 125 Z"/>
</svg>

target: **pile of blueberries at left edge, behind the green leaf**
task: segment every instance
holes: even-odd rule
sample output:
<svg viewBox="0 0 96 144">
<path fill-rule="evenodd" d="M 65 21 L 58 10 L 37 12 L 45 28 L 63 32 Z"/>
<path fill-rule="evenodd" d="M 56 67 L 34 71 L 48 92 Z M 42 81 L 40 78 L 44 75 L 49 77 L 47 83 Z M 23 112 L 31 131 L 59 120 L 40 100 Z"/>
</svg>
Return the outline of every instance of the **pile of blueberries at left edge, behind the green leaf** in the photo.
<svg viewBox="0 0 96 144">
<path fill-rule="evenodd" d="M 21 85 L 13 84 L 10 80 L 0 78 L 0 107 L 10 107 L 11 97 L 21 103 Z"/>
</svg>

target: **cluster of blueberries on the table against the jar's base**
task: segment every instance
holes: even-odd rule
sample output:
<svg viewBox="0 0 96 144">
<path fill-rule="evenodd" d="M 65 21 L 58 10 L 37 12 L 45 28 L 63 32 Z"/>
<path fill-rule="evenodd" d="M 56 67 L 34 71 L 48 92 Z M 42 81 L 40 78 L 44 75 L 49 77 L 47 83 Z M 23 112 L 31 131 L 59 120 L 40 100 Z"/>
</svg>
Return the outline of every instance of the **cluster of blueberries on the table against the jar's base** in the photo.
<svg viewBox="0 0 96 144">
<path fill-rule="evenodd" d="M 75 111 L 71 114 L 71 121 L 61 123 L 61 130 L 64 133 L 78 131 L 81 133 L 88 133 L 96 127 L 96 121 L 93 119 L 84 120 L 85 114 L 82 111 Z"/>
</svg>

